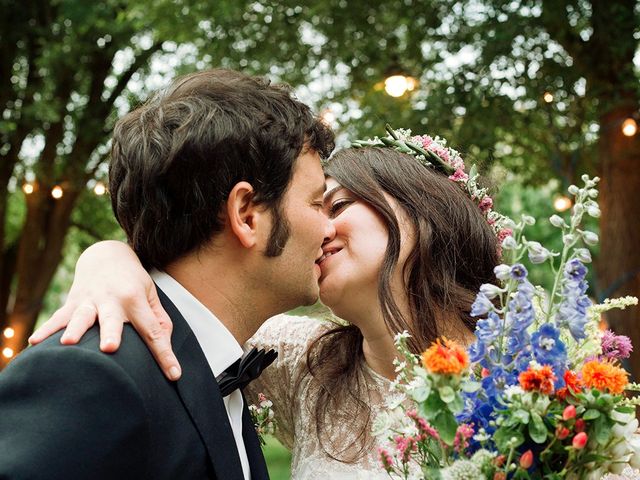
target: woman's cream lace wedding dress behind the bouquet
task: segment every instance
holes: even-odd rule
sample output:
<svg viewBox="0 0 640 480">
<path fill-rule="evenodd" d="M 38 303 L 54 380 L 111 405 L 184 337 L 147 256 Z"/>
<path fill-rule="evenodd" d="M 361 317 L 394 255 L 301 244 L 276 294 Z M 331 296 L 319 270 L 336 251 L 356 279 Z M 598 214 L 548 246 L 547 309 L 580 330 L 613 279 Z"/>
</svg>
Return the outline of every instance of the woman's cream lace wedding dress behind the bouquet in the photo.
<svg viewBox="0 0 640 480">
<path fill-rule="evenodd" d="M 377 449 L 370 442 L 355 462 L 334 460 L 320 445 L 313 407 L 317 403 L 318 387 L 310 375 L 305 375 L 308 345 L 323 331 L 331 328 L 327 322 L 309 317 L 278 315 L 267 321 L 249 340 L 250 347 L 273 348 L 278 352 L 276 361 L 253 381 L 245 394 L 249 403 L 257 403 L 258 393 L 264 393 L 273 402 L 278 423 L 276 437 L 291 450 L 291 477 L 295 480 L 326 479 L 387 479 L 378 466 Z M 375 373 L 366 364 L 364 383 L 372 410 L 372 419 L 384 406 L 391 382 Z M 356 435 L 349 424 L 357 412 L 355 405 L 343 405 L 332 413 L 331 425 L 325 429 L 331 444 L 340 448 L 355 445 Z M 352 449 L 355 447 L 351 447 Z M 349 455 L 355 451 L 344 453 Z"/>
</svg>

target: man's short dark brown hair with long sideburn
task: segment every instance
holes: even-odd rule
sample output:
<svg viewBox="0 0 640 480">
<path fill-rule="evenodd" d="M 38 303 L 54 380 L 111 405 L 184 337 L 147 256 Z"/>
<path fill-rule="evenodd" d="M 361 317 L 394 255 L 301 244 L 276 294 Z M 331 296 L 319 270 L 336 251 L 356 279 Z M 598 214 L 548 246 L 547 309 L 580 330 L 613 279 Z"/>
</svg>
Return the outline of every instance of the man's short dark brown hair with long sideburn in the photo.
<svg viewBox="0 0 640 480">
<path fill-rule="evenodd" d="M 296 159 L 305 149 L 327 158 L 333 147 L 331 129 L 286 85 L 233 70 L 187 75 L 116 123 L 113 211 L 143 265 L 164 268 L 222 230 L 229 192 L 247 181 L 273 213 L 266 255 L 277 256 Z"/>
</svg>

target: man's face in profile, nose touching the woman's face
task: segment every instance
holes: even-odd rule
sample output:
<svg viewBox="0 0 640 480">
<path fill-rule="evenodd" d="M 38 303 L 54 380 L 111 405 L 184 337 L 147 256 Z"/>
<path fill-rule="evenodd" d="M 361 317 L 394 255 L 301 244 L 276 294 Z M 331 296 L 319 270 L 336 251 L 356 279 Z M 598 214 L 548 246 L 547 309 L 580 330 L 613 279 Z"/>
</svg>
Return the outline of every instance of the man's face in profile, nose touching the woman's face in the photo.
<svg viewBox="0 0 640 480">
<path fill-rule="evenodd" d="M 290 236 L 278 257 L 271 259 L 268 279 L 279 300 L 290 309 L 311 305 L 318 299 L 322 244 L 335 235 L 323 209 L 325 190 L 320 157 L 313 150 L 298 157 L 282 202 L 282 214 Z"/>
</svg>

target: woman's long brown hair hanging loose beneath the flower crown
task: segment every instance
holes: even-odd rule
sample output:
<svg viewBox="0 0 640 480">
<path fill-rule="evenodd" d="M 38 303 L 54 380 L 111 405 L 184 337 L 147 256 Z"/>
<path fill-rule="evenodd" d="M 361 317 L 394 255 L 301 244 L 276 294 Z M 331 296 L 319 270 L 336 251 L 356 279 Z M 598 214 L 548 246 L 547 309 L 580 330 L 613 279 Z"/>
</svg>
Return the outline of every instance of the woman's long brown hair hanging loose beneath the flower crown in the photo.
<svg viewBox="0 0 640 480">
<path fill-rule="evenodd" d="M 477 204 L 444 174 L 392 149 L 342 150 L 328 161 L 325 173 L 369 204 L 387 227 L 389 240 L 379 274 L 378 299 L 389 331 L 408 330 L 414 354 L 442 335 L 443 325 L 459 326 L 461 338 L 473 331 L 471 304 L 480 285 L 494 280 L 498 262 L 497 238 Z M 384 194 L 402 208 L 413 229 L 415 246 L 403 269 L 410 318 L 403 316 L 391 295 L 401 239 L 398 219 Z M 337 326 L 307 350 L 308 371 L 319 387 L 313 407 L 318 439 L 327 454 L 343 462 L 357 460 L 370 446 L 371 410 L 362 341 L 357 327 Z M 344 448 L 327 445 L 323 426 L 330 424 L 341 407 L 352 404 L 357 411 L 348 415 L 353 419 L 348 427 L 356 432 L 355 438 L 341 439 L 341 446 L 347 445 Z M 356 453 L 345 455 L 354 445 Z"/>
</svg>

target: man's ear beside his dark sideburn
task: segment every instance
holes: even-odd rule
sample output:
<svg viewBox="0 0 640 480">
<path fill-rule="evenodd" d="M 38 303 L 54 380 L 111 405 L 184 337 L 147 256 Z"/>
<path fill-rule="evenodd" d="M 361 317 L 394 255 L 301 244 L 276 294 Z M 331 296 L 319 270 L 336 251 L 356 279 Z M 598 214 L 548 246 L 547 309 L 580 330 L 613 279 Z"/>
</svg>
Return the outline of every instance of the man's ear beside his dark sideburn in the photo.
<svg viewBox="0 0 640 480">
<path fill-rule="evenodd" d="M 253 201 L 255 191 L 249 182 L 238 182 L 227 197 L 227 219 L 231 231 L 245 248 L 252 248 L 258 241 L 259 227 L 266 219 L 263 205 Z"/>
</svg>

